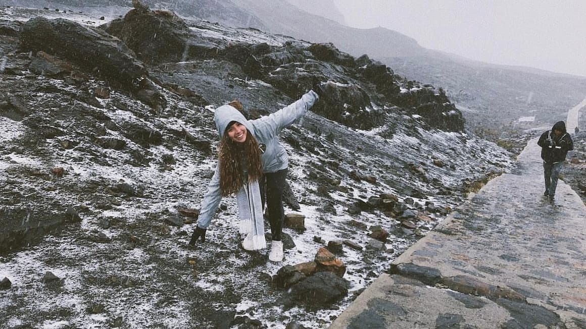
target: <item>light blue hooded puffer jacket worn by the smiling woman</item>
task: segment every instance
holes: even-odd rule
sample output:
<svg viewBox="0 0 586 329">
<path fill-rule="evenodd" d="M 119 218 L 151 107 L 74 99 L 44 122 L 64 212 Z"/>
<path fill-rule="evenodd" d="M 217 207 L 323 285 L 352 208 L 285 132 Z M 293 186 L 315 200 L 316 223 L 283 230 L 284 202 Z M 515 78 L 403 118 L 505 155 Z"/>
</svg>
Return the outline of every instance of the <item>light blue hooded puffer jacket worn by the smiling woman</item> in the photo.
<svg viewBox="0 0 586 329">
<path fill-rule="evenodd" d="M 231 121 L 237 121 L 246 126 L 248 133 L 257 139 L 258 144 L 264 144 L 266 150 L 261 156 L 264 173 L 274 173 L 278 170 L 285 169 L 289 165 L 289 156 L 285 147 L 279 142 L 278 135 L 283 128 L 293 124 L 297 119 L 305 115 L 315 101 L 318 100 L 318 94 L 309 91 L 299 100 L 287 105 L 286 107 L 262 118 L 247 120 L 244 115 L 236 108 L 230 105 L 222 105 L 216 109 L 214 121 L 220 135 L 224 135 L 228 124 Z M 207 228 L 212 221 L 214 213 L 222 200 L 220 191 L 220 168 L 216 165 L 216 171 L 207 187 L 207 193 L 203 197 L 202 207 L 200 208 L 197 226 Z"/>
</svg>

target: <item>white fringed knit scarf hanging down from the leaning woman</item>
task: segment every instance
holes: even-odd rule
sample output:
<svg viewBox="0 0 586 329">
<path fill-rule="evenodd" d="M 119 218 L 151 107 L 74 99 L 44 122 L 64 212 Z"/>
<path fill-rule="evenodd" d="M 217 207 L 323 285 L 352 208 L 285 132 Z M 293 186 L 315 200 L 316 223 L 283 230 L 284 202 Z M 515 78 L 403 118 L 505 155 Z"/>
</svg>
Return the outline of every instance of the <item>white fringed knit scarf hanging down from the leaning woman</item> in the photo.
<svg viewBox="0 0 586 329">
<path fill-rule="evenodd" d="M 263 204 L 258 181 L 248 181 L 236 194 L 240 217 L 240 234 L 253 235 L 253 250 L 267 248 L 264 238 Z"/>
</svg>

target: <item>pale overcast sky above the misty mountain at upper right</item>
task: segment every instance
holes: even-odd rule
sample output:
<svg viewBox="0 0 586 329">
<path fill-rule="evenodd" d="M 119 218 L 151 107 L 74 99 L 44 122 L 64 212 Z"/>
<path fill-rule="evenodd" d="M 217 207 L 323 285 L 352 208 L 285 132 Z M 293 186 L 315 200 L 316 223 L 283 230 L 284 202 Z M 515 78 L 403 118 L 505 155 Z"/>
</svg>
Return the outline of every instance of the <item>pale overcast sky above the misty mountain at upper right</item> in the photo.
<svg viewBox="0 0 586 329">
<path fill-rule="evenodd" d="M 586 76 L 586 0 L 333 0 L 346 24 L 495 64 Z"/>
</svg>

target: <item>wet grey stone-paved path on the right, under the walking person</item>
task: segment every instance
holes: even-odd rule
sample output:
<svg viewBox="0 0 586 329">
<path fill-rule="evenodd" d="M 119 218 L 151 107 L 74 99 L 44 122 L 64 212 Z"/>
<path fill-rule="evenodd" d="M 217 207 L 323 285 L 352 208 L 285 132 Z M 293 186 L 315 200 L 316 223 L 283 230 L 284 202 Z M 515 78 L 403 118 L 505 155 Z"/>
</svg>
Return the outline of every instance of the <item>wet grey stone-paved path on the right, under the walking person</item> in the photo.
<svg viewBox="0 0 586 329">
<path fill-rule="evenodd" d="M 586 207 L 563 181 L 543 197 L 536 142 L 330 328 L 586 329 Z"/>
</svg>

